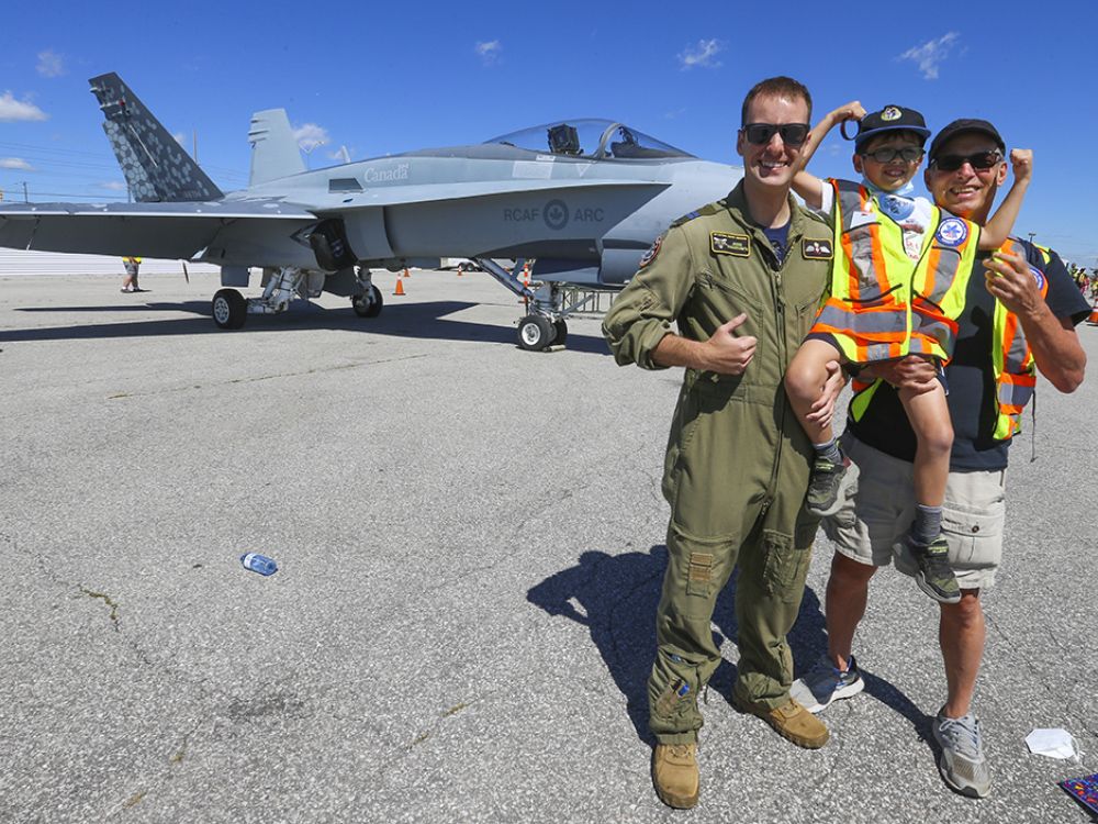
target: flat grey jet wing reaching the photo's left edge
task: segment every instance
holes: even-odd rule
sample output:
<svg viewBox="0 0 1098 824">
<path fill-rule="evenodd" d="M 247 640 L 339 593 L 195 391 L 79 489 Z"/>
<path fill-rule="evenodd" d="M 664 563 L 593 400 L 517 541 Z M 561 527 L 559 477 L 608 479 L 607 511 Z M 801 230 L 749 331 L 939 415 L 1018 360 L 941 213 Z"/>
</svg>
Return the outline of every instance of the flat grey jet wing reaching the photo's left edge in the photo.
<svg viewBox="0 0 1098 824">
<path fill-rule="evenodd" d="M 227 225 L 280 225 L 280 234 L 316 215 L 279 199 L 175 203 L 22 203 L 0 208 L 0 246 L 91 255 L 190 259 Z M 243 224 L 243 225 L 242 225 Z"/>
</svg>

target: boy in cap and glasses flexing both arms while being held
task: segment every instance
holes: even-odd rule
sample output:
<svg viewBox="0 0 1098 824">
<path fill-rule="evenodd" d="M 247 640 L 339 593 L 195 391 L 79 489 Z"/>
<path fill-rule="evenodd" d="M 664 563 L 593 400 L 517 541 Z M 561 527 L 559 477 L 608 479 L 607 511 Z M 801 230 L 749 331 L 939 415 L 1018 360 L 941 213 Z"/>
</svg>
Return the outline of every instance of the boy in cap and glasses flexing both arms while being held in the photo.
<svg viewBox="0 0 1098 824">
<path fill-rule="evenodd" d="M 816 449 L 806 505 L 814 514 L 833 514 L 850 461 L 836 442 L 830 420 L 813 414 L 827 380 L 827 364 L 839 359 L 853 374 L 908 355 L 938 364 L 939 380 L 920 390 L 900 390 L 899 399 L 917 438 L 916 517 L 906 543 L 919 571 L 916 582 L 935 601 L 956 603 L 961 590 L 946 563 L 941 535 L 942 504 L 953 446 L 941 366 L 953 354 L 956 316 L 964 307 L 976 250 L 998 249 L 1013 229 L 1032 175 L 1032 152 L 1013 149 L 1015 182 L 987 225 L 943 212 L 926 198 L 911 196 L 911 178 L 930 135 L 919 112 L 888 105 L 866 114 L 859 102 L 836 109 L 813 130 L 802 149 L 804 163 L 837 124 L 856 120 L 854 170 L 860 183 L 799 171 L 794 190 L 834 226 L 830 297 L 786 372 L 786 388 L 805 433 Z M 960 159 L 990 168 L 998 152 Z M 957 167 L 954 167 L 957 168 Z M 993 256 L 994 257 L 994 256 Z M 873 381 L 861 391 L 871 392 Z M 867 400 L 867 398 L 866 398 Z M 851 404 L 856 414 L 858 387 Z"/>
</svg>

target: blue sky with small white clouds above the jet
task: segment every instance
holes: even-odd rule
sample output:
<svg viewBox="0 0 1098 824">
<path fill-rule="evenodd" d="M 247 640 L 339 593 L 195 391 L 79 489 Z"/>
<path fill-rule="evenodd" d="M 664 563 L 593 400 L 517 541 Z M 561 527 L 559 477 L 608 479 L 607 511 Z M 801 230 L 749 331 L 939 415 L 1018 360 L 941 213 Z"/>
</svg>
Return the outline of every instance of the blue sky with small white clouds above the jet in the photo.
<svg viewBox="0 0 1098 824">
<path fill-rule="evenodd" d="M 1034 149 L 1017 231 L 1098 266 L 1098 4 L 666 2 L 9 3 L 0 189 L 21 201 L 124 199 L 87 79 L 116 71 L 223 189 L 246 185 L 251 112 L 284 107 L 312 167 L 606 116 L 737 163 L 744 92 L 786 74 L 816 115 L 860 99 L 937 130 L 996 123 Z M 819 175 L 851 175 L 830 137 Z M 1089 152 L 1083 155 L 1084 146 Z M 917 180 L 918 182 L 918 180 Z"/>
</svg>

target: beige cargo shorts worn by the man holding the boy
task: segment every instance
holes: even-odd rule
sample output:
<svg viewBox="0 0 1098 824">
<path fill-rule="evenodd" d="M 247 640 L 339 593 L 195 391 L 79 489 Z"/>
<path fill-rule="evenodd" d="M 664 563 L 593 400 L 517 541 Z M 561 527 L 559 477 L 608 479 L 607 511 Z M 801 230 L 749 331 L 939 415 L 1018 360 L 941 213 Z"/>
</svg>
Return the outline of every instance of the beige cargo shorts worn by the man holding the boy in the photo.
<svg viewBox="0 0 1098 824">
<path fill-rule="evenodd" d="M 824 531 L 837 552 L 860 564 L 918 569 L 904 544 L 915 520 L 914 466 L 874 449 L 850 432 L 842 448 L 858 464 L 858 480 Z M 988 589 L 1002 559 L 1006 469 L 950 472 L 942 508 L 942 535 L 950 545 L 950 566 L 961 589 Z"/>
</svg>

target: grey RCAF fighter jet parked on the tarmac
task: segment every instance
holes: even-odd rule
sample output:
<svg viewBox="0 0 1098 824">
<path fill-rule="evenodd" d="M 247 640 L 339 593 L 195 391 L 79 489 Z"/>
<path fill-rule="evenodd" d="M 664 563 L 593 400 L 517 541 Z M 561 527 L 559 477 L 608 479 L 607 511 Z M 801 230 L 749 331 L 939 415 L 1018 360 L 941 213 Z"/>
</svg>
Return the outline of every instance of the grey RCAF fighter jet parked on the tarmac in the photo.
<svg viewBox="0 0 1098 824">
<path fill-rule="evenodd" d="M 135 202 L 4 203 L 0 245 L 217 265 L 222 329 L 324 291 L 374 318 L 371 269 L 469 258 L 525 299 L 518 343 L 544 349 L 567 338 L 576 294 L 619 289 L 674 219 L 742 177 L 609 120 L 309 170 L 285 110 L 271 109 L 251 116 L 248 188 L 225 193 L 117 75 L 89 82 Z M 233 287 L 253 268 L 262 294 L 245 298 Z"/>
</svg>

